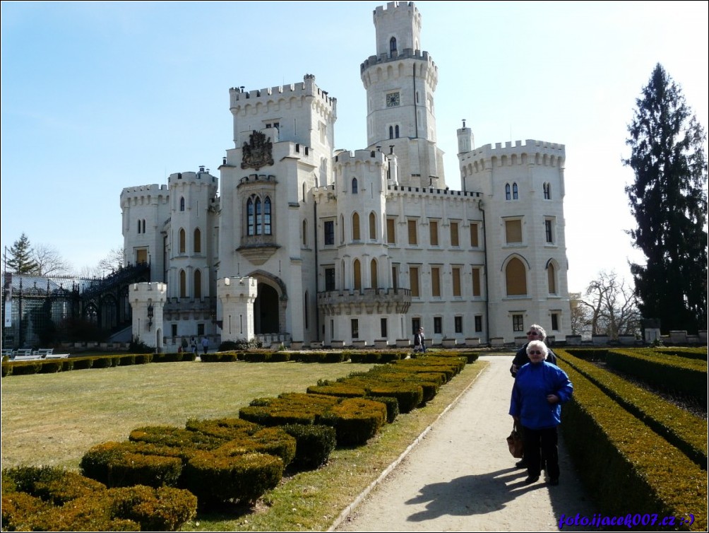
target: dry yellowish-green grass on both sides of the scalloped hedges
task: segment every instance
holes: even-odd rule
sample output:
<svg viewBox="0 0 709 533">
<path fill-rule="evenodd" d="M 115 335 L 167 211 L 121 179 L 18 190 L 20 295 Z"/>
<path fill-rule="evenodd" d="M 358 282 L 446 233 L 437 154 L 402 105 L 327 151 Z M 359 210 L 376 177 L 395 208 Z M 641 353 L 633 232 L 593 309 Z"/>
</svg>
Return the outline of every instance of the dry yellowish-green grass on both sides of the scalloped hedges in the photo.
<svg viewBox="0 0 709 533">
<path fill-rule="evenodd" d="M 337 450 L 318 471 L 284 478 L 247 515 L 199 516 L 191 530 L 324 530 L 476 378 L 468 365 L 432 402 L 372 439 Z M 184 427 L 188 418 L 238 416 L 240 407 L 280 392 L 305 392 L 371 365 L 352 363 L 152 363 L 2 379 L 2 466 L 77 468 L 94 444 L 123 441 L 145 425 Z"/>
</svg>

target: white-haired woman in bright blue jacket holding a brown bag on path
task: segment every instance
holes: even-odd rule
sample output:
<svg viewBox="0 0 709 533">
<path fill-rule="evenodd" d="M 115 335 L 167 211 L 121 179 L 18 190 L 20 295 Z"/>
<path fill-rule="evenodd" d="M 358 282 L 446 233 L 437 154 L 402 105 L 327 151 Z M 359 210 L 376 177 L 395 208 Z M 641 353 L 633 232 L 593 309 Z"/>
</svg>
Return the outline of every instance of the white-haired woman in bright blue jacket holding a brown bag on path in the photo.
<svg viewBox="0 0 709 533">
<path fill-rule="evenodd" d="M 539 479 L 542 458 L 546 463 L 549 485 L 559 485 L 557 426 L 562 422 L 561 404 L 574 392 L 566 372 L 545 361 L 547 352 L 547 345 L 542 341 L 527 344 L 530 364 L 518 370 L 512 388 L 510 414 L 523 427 L 526 485 Z"/>
</svg>

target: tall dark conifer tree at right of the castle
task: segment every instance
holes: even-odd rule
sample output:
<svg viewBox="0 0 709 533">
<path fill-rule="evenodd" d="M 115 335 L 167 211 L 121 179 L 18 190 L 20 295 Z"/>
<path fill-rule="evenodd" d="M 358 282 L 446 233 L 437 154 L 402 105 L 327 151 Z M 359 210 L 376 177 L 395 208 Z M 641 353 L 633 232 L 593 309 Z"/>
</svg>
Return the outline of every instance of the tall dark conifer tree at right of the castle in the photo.
<svg viewBox="0 0 709 533">
<path fill-rule="evenodd" d="M 635 171 L 630 235 L 647 258 L 630 265 L 635 294 L 663 331 L 697 331 L 707 324 L 705 131 L 659 63 L 636 103 L 623 161 Z"/>
</svg>

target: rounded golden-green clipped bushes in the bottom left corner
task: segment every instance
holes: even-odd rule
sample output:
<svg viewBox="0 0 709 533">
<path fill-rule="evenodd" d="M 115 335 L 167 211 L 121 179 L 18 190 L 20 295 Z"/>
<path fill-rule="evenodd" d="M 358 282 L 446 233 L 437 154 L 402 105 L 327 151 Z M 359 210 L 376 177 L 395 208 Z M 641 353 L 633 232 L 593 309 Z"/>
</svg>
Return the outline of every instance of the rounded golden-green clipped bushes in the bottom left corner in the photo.
<svg viewBox="0 0 709 533">
<path fill-rule="evenodd" d="M 177 531 L 196 508 L 194 495 L 177 488 L 106 488 L 50 467 L 2 473 L 4 531 Z"/>
</svg>

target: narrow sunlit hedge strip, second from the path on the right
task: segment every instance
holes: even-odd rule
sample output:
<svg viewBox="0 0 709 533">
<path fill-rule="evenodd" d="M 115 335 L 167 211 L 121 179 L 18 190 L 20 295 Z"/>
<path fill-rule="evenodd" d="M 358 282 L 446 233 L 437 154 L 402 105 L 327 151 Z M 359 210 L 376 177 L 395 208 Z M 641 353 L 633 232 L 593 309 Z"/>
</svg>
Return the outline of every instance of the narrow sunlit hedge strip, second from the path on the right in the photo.
<svg viewBox="0 0 709 533">
<path fill-rule="evenodd" d="M 556 353 L 562 361 L 578 370 L 605 394 L 706 470 L 709 430 L 706 420 L 562 349 L 557 350 Z"/>
</svg>

